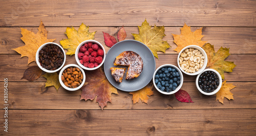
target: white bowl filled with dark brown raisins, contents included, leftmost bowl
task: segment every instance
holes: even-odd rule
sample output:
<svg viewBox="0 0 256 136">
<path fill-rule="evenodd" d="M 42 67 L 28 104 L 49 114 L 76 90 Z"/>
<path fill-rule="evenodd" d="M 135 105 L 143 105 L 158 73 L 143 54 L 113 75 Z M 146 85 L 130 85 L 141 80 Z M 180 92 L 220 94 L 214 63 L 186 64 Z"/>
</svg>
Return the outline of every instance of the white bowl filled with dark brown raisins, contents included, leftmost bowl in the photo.
<svg viewBox="0 0 256 136">
<path fill-rule="evenodd" d="M 66 53 L 57 43 L 48 42 L 37 49 L 35 58 L 42 71 L 54 73 L 65 65 Z"/>
</svg>

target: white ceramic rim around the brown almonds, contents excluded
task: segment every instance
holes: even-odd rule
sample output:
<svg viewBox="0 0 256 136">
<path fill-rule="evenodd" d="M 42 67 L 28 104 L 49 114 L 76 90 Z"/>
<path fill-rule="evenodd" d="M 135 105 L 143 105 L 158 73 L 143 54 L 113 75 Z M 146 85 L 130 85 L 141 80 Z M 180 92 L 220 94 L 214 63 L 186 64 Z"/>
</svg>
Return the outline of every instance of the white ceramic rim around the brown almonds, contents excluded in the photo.
<svg viewBox="0 0 256 136">
<path fill-rule="evenodd" d="M 82 75 L 83 75 L 82 84 L 81 84 L 79 87 L 77 87 L 77 88 L 69 88 L 69 87 L 65 86 L 65 84 L 64 84 L 63 81 L 61 80 L 61 75 L 62 75 L 63 71 L 64 71 L 65 69 L 69 68 L 69 67 L 77 67 L 77 68 L 79 68 L 79 69 L 82 71 Z M 59 83 L 60 83 L 60 85 L 61 85 L 64 89 L 66 89 L 66 90 L 69 90 L 69 91 L 76 91 L 76 90 L 80 89 L 80 88 L 83 86 L 83 84 L 84 84 L 85 82 L 86 82 L 86 73 L 84 73 L 83 69 L 82 69 L 81 67 L 79 67 L 78 65 L 76 65 L 76 64 L 69 64 L 69 65 L 66 65 L 66 66 L 63 67 L 63 68 L 60 70 L 60 72 L 59 72 Z"/>
</svg>

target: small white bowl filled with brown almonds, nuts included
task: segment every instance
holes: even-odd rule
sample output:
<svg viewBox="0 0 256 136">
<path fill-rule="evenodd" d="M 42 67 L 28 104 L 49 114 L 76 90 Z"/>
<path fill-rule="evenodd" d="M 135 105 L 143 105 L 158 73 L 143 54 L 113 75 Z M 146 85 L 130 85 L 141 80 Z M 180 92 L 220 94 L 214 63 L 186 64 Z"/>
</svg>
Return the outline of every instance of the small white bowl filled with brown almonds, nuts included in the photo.
<svg viewBox="0 0 256 136">
<path fill-rule="evenodd" d="M 66 90 L 76 91 L 83 86 L 85 81 L 86 73 L 78 65 L 66 65 L 59 72 L 59 83 Z"/>
</svg>

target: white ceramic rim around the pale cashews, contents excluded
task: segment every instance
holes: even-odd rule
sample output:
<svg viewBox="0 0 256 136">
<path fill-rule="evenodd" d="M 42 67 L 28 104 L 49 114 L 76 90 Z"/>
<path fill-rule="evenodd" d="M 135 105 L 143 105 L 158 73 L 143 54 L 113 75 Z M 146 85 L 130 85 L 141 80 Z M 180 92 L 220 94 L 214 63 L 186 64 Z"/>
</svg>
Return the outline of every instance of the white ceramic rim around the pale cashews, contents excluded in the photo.
<svg viewBox="0 0 256 136">
<path fill-rule="evenodd" d="M 201 54 L 204 56 L 204 65 L 203 65 L 203 67 L 200 68 L 200 69 L 199 69 L 198 71 L 196 71 L 195 73 L 188 73 L 188 72 L 185 72 L 185 71 L 181 68 L 180 63 L 179 63 L 179 58 L 180 58 L 181 53 L 182 53 L 185 49 L 187 49 L 187 48 L 195 48 L 195 49 L 198 49 L 198 50 L 201 52 Z M 179 56 L 178 56 L 178 58 L 177 58 L 177 63 L 178 63 L 178 66 L 179 66 L 180 70 L 181 70 L 183 73 L 187 74 L 187 75 L 198 75 L 199 73 L 201 73 L 201 72 L 206 68 L 207 61 L 208 61 L 208 60 L 207 60 L 206 52 L 204 51 L 203 48 L 201 48 L 201 47 L 199 47 L 199 46 L 197 46 L 197 45 L 189 45 L 189 46 L 184 47 L 184 48 L 180 51 Z"/>
</svg>

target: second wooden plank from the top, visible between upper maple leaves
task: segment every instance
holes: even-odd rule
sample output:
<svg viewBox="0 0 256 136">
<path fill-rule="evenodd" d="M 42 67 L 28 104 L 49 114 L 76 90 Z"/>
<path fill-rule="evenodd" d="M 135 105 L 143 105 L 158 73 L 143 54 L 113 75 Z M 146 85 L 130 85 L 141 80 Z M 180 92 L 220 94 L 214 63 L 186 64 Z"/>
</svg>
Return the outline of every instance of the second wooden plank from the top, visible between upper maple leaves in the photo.
<svg viewBox="0 0 256 136">
<path fill-rule="evenodd" d="M 153 23 L 150 23 L 154 25 Z M 39 25 L 39 20 L 37 22 L 37 26 Z M 141 25 L 139 23 L 138 25 Z M 162 25 L 162 24 L 161 24 Z M 188 24 L 189 25 L 189 24 Z M 37 33 L 37 28 L 25 28 L 27 30 L 33 29 L 34 33 Z M 55 39 L 54 42 L 59 43 L 60 40 L 66 39 L 67 36 L 64 34 L 66 32 L 66 27 L 47 27 L 48 30 L 48 39 Z M 78 30 L 77 27 L 75 27 Z M 120 27 L 90 27 L 90 32 L 97 31 L 95 34 L 95 40 L 99 41 L 106 52 L 110 49 L 105 46 L 103 32 L 109 33 L 110 35 L 117 35 Z M 138 28 L 136 27 L 124 27 L 127 37 L 126 40 L 134 40 L 134 37 L 131 33 L 138 34 Z M 192 27 L 191 31 L 196 31 L 199 27 Z M 215 45 L 216 51 L 222 46 L 229 48 L 229 53 L 235 54 L 255 54 L 256 52 L 256 28 L 219 28 L 219 27 L 204 27 L 203 35 L 205 35 L 202 40 Z M 166 36 L 163 38 L 164 41 L 172 46 L 166 50 L 166 53 L 175 53 L 174 49 L 177 45 L 173 42 L 173 35 L 179 35 L 180 27 L 165 27 Z M 19 46 L 25 45 L 20 38 L 22 35 L 20 34 L 20 28 L 0 28 L 0 54 L 17 54 L 16 51 L 12 50 L 12 48 L 17 48 Z M 158 52 L 163 53 L 163 52 Z"/>
</svg>

